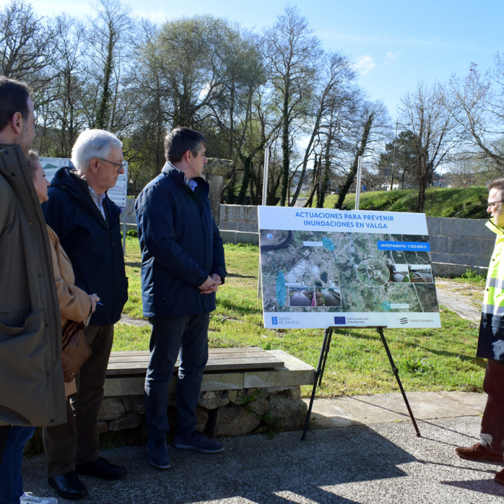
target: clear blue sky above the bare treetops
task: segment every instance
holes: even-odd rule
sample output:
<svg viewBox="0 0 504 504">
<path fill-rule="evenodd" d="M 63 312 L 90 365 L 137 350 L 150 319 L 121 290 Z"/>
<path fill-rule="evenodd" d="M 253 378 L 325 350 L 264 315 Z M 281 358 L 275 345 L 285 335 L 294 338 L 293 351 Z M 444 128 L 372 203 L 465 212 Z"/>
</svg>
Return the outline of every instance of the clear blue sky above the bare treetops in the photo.
<svg viewBox="0 0 504 504">
<path fill-rule="evenodd" d="M 0 4 L 5 4 L 0 0 Z M 91 12 L 85 1 L 34 0 L 39 15 Z M 275 22 L 288 5 L 279 0 L 124 0 L 132 13 L 154 22 L 212 14 L 248 28 Z M 349 55 L 360 70 L 359 82 L 369 98 L 381 100 L 396 116 L 400 97 L 427 84 L 446 81 L 452 73 L 464 75 L 471 62 L 480 69 L 493 66 L 493 56 L 504 52 L 502 0 L 298 0 L 302 15 L 326 50 Z"/>
</svg>

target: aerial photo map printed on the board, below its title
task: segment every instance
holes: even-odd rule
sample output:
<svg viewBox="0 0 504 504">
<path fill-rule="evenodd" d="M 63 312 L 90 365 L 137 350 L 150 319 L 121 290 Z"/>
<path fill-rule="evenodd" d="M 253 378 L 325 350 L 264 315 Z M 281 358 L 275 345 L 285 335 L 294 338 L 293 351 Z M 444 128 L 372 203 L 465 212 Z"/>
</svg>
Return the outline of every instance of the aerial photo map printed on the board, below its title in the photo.
<svg viewBox="0 0 504 504">
<path fill-rule="evenodd" d="M 385 325 L 394 314 L 401 326 L 408 318 L 398 315 L 438 314 L 427 235 L 260 229 L 259 237 L 265 323 L 267 314 L 273 325 L 289 321 L 286 312 L 342 314 L 334 321 L 343 325 L 348 315 L 382 313 Z"/>
</svg>

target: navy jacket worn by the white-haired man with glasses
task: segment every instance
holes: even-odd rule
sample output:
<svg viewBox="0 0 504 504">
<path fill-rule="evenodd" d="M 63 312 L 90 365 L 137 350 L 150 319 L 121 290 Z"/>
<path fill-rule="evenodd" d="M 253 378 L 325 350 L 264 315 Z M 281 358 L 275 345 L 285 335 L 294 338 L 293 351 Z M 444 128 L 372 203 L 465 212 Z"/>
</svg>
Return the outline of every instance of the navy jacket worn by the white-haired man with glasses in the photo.
<svg viewBox="0 0 504 504">
<path fill-rule="evenodd" d="M 89 194 L 89 186 L 70 168 L 56 172 L 49 201 L 42 211 L 60 238 L 73 266 L 76 285 L 100 296 L 91 316 L 92 325 L 110 325 L 121 318 L 128 298 L 128 282 L 119 226 L 119 207 L 108 196 L 103 200 L 108 223 Z"/>
</svg>

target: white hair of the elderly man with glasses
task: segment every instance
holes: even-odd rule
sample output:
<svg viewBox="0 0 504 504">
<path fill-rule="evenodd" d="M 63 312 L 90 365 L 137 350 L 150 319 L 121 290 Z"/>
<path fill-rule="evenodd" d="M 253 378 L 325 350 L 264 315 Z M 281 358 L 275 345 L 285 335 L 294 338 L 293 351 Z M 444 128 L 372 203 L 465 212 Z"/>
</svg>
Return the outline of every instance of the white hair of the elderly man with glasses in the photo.
<svg viewBox="0 0 504 504">
<path fill-rule="evenodd" d="M 113 134 L 104 129 L 88 129 L 73 144 L 72 164 L 79 175 L 84 175 L 92 158 L 107 159 L 114 147 L 122 148 L 122 142 Z"/>
</svg>

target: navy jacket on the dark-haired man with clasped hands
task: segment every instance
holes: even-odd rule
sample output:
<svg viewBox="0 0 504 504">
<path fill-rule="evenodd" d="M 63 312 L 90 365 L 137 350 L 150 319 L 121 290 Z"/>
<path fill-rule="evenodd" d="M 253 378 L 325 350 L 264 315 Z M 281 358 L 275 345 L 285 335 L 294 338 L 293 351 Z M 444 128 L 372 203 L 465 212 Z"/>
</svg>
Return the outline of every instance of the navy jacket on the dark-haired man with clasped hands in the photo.
<svg viewBox="0 0 504 504">
<path fill-rule="evenodd" d="M 195 191 L 170 163 L 151 180 L 135 203 L 142 251 L 144 316 L 196 315 L 215 309 L 215 292 L 198 286 L 217 273 L 226 276 L 224 248 L 212 216 L 209 185 L 200 177 Z"/>
</svg>

